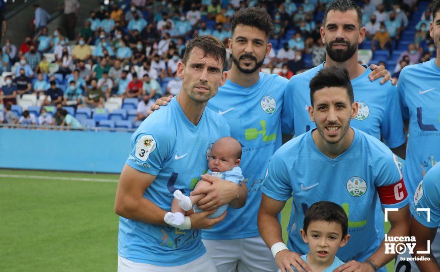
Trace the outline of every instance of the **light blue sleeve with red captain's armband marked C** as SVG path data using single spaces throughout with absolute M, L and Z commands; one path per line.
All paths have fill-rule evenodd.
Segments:
M 402 164 L 391 150 L 387 151 L 375 164 L 378 170 L 375 186 L 383 208 L 402 208 L 409 202 Z

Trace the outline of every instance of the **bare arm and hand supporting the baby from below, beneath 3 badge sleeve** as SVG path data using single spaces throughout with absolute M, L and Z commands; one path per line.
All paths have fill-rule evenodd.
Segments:
M 164 221 L 167 211 L 161 209 L 151 200 L 143 197 L 143 193 L 151 185 L 156 176 L 140 172 L 128 165 L 124 166 L 118 183 L 115 199 L 115 213 L 135 221 L 152 225 L 167 225 Z M 215 210 L 191 214 L 191 228 L 210 228 L 221 222 L 226 213 L 218 218 L 209 219 Z

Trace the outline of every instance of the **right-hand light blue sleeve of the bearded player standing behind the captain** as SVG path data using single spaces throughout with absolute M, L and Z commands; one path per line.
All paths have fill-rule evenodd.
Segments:
M 382 118 L 381 131 L 387 145 L 395 148 L 405 143 L 406 136 L 396 87 L 388 84 L 390 89 L 387 90 L 387 106 Z

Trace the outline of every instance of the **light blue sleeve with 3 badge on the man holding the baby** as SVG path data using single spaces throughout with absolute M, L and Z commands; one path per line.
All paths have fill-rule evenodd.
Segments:
M 175 143 L 175 134 L 167 132 L 169 126 L 160 126 L 148 122 L 136 131 L 131 139 L 131 151 L 126 164 L 141 172 L 157 176 L 163 163 L 170 157 Z

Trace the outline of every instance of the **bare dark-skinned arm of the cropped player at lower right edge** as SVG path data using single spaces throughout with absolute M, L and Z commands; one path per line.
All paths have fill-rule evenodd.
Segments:
M 436 257 L 430 252 L 427 254 L 417 254 L 417 251 L 427 251 L 428 241 L 432 242 L 437 234 L 437 227 L 426 227 L 420 224 L 414 217 L 411 218 L 410 236 L 416 238 L 416 246 L 412 257 L 424 257 L 425 261 L 415 261 L 420 271 L 439 271 L 440 267 Z M 429 258 L 429 261 L 428 261 Z

